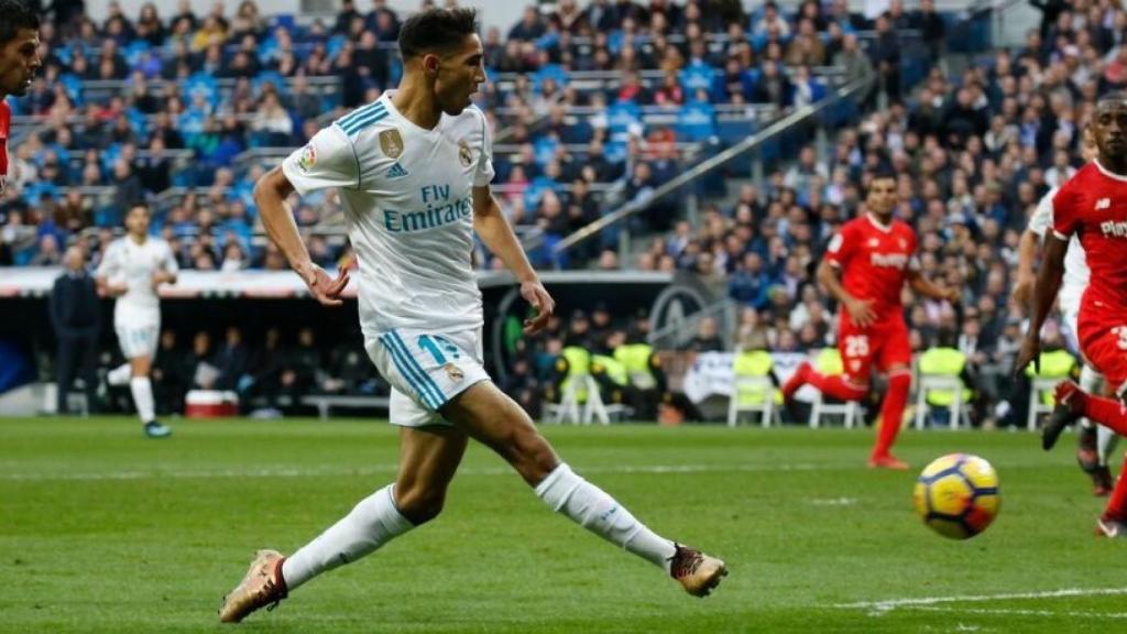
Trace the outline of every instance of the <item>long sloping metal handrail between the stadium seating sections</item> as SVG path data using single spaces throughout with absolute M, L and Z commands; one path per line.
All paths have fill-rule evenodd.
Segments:
M 689 171 L 682 173 L 680 176 L 676 176 L 672 180 L 666 182 L 664 185 L 655 190 L 654 193 L 647 196 L 645 200 L 627 203 L 625 205 L 619 208 L 618 210 L 607 213 L 603 218 L 600 218 L 598 220 L 592 222 L 591 224 L 587 224 L 583 229 L 579 229 L 578 231 L 564 238 L 553 247 L 552 252 L 554 254 L 560 254 L 574 247 L 575 245 L 595 236 L 596 234 L 610 227 L 611 224 L 618 222 L 619 220 L 628 218 L 635 213 L 638 213 L 639 211 L 642 211 L 650 204 L 668 195 L 671 192 L 680 188 L 681 186 L 692 182 L 695 178 L 699 178 L 703 174 L 711 171 L 717 167 L 720 167 L 721 165 L 751 150 L 752 148 L 755 148 L 756 146 L 764 143 L 765 141 L 770 140 L 777 134 L 784 132 L 796 123 L 799 123 L 808 117 L 811 117 L 820 113 L 825 108 L 840 103 L 842 99 L 846 99 L 855 95 L 857 93 L 867 89 L 872 83 L 875 78 L 876 73 L 869 73 L 866 77 L 859 78 L 851 83 L 836 88 L 828 97 L 822 99 L 816 104 L 808 104 L 795 109 L 795 112 L 775 121 L 774 123 L 764 127 L 756 134 L 740 141 L 739 143 L 736 143 L 735 146 L 728 148 L 727 150 L 719 152 L 715 157 L 701 161 L 699 165 L 696 165 Z M 525 245 L 525 247 L 527 248 L 529 245 Z

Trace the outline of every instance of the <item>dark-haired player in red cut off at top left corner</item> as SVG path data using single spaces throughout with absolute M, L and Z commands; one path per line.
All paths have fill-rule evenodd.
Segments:
M 43 65 L 39 16 L 18 0 L 0 0 L 0 192 L 8 180 L 8 95 L 23 96 Z

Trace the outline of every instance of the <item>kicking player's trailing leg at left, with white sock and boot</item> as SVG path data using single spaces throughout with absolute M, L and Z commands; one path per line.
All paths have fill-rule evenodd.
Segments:
M 400 430 L 399 474 L 290 557 L 260 551 L 225 598 L 220 620 L 237 623 L 277 604 L 313 576 L 369 555 L 438 517 L 465 454 L 467 435 L 445 425 Z

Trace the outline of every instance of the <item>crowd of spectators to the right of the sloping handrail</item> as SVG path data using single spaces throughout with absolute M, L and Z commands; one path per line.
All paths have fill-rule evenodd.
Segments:
M 1019 238 L 1041 196 L 1082 165 L 1098 95 L 1127 83 L 1125 43 L 1118 3 L 1073 2 L 1018 50 L 993 52 L 957 77 L 937 67 L 909 98 L 840 131 L 825 156 L 805 148 L 762 191 L 744 186 L 696 226 L 677 223 L 635 264 L 694 271 L 726 292 L 742 310 L 740 346 L 832 345 L 837 307 L 815 268 L 836 229 L 863 212 L 873 170 L 891 168 L 897 217 L 917 232 L 924 275 L 962 290 L 959 306 L 904 290 L 913 349 L 956 342 L 978 370 L 979 390 L 1004 403 L 996 379 L 1010 369 L 1027 311 L 1011 297 Z

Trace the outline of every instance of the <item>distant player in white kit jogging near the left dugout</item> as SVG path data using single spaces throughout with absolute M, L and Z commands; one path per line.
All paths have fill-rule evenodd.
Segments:
M 98 266 L 98 292 L 117 298 L 114 302 L 114 331 L 126 362 L 109 371 L 106 381 L 130 386 L 137 417 L 149 438 L 172 433 L 157 422 L 149 370 L 157 355 L 160 334 L 161 284 L 175 284 L 179 267 L 168 243 L 149 235 L 151 212 L 144 204 L 130 208 L 125 215 L 125 237 L 109 244 Z

